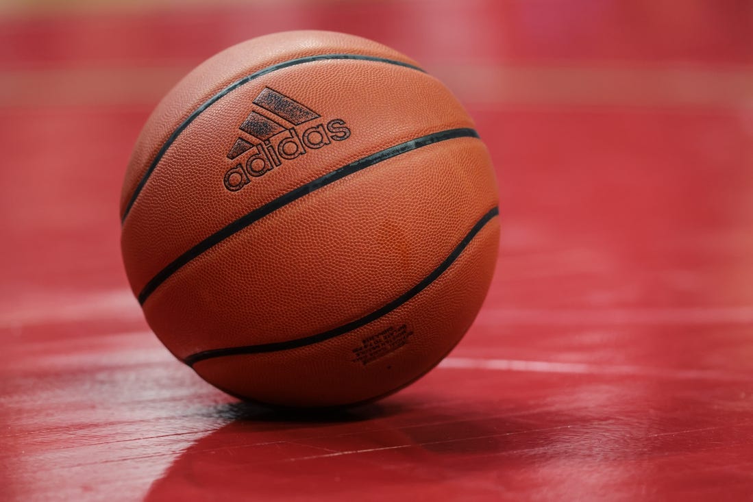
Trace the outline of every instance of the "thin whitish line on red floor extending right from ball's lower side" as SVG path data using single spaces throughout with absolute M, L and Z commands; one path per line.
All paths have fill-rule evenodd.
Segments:
M 484 359 L 475 357 L 447 357 L 441 368 L 454 370 L 520 371 L 529 373 L 575 373 L 581 375 L 650 376 L 672 380 L 746 381 L 753 374 L 726 373 L 715 370 L 674 370 L 641 366 L 590 363 L 558 363 L 553 361 L 521 361 L 515 359 Z

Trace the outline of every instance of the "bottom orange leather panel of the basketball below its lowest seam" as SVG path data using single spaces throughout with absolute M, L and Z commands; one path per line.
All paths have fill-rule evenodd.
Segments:
M 368 326 L 289 351 L 209 359 L 194 369 L 230 394 L 280 406 L 342 406 L 392 394 L 436 366 L 471 326 L 492 278 L 498 235 L 495 218 L 437 281 Z M 402 324 L 413 331 L 406 345 L 366 365 L 353 361 L 363 339 Z

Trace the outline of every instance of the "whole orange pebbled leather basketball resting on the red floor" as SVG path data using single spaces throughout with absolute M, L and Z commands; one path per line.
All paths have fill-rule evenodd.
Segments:
M 495 265 L 489 154 L 412 59 L 333 32 L 230 47 L 157 105 L 120 199 L 149 325 L 229 394 L 337 406 L 442 360 Z

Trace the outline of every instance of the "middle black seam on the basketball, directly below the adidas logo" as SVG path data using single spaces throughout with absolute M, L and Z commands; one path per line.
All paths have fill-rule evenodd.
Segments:
M 294 200 L 300 199 L 301 197 L 312 193 L 314 190 L 319 190 L 319 188 L 325 187 L 328 184 L 331 184 L 341 178 L 345 178 L 348 175 L 352 175 L 354 172 L 361 171 L 361 169 L 366 169 L 367 167 L 380 163 L 383 160 L 397 157 L 398 155 L 416 150 L 417 148 L 433 145 L 434 143 L 438 143 L 439 141 L 447 141 L 448 139 L 453 138 L 478 137 L 478 133 L 474 129 L 468 128 L 447 129 L 446 131 L 434 132 L 433 134 L 425 135 L 421 138 L 412 139 L 410 141 L 401 143 L 400 145 L 386 148 L 383 151 L 378 151 L 376 154 L 371 154 L 367 157 L 356 160 L 355 162 L 346 164 L 343 167 L 328 172 L 326 175 L 320 176 L 313 181 L 309 181 L 308 183 L 303 184 L 300 187 L 294 188 L 288 193 L 285 193 L 284 195 L 279 196 L 276 199 L 267 202 L 266 204 L 261 205 L 258 208 L 255 208 L 253 211 L 244 214 L 236 221 L 233 221 L 226 227 L 213 233 L 211 236 L 207 237 L 202 242 L 199 242 L 193 248 L 175 258 L 172 263 L 169 263 L 168 266 L 160 270 L 157 275 L 154 275 L 154 277 L 151 278 L 150 281 L 148 281 L 148 283 L 144 286 L 144 289 L 142 289 L 141 293 L 139 293 L 139 303 L 143 305 L 149 295 L 154 293 L 154 290 L 156 290 L 160 284 L 166 281 L 166 279 L 169 278 L 170 275 L 177 272 L 178 269 L 181 268 L 181 266 L 184 266 L 186 263 L 202 254 L 204 251 L 207 251 L 209 248 L 212 248 L 212 246 L 224 241 L 224 239 L 227 239 L 234 233 L 243 230 L 245 227 L 248 227 L 248 225 L 254 223 L 255 221 L 264 218 L 265 216 L 267 216 L 267 214 L 270 214 L 271 212 L 282 208 L 282 206 L 288 205 Z

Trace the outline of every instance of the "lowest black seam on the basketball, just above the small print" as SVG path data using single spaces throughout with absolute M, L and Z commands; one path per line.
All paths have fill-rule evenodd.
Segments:
M 328 330 L 324 333 L 319 333 L 313 336 L 305 336 L 303 338 L 287 340 L 285 342 L 263 343 L 260 345 L 245 345 L 243 347 L 215 348 L 213 350 L 201 351 L 186 357 L 183 362 L 188 366 L 194 366 L 194 364 L 197 364 L 199 361 L 211 359 L 212 357 L 224 357 L 239 354 L 261 354 L 263 352 L 275 352 L 288 350 L 291 348 L 300 348 L 306 345 L 323 342 L 325 340 L 334 338 L 335 336 L 349 333 L 352 330 L 356 330 L 359 327 L 363 327 L 366 324 L 369 324 L 370 322 L 376 321 L 378 318 L 382 317 L 383 315 L 389 314 L 389 312 L 392 312 L 411 298 L 415 297 L 421 291 L 425 290 L 425 288 L 427 288 L 429 284 L 439 278 L 439 276 L 442 275 L 447 269 L 449 269 L 450 265 L 452 265 L 455 260 L 458 259 L 460 254 L 462 254 L 463 250 L 468 247 L 468 244 L 471 243 L 477 233 L 481 231 L 481 229 L 489 222 L 489 220 L 491 220 L 498 214 L 499 209 L 496 206 L 490 209 L 489 212 L 484 214 L 481 219 L 476 222 L 473 228 L 471 228 L 471 231 L 469 231 L 468 234 L 463 237 L 462 241 L 460 241 L 455 249 L 453 249 L 453 252 L 450 253 L 450 255 L 445 258 L 444 261 L 440 263 L 440 265 L 437 266 L 436 269 L 432 270 L 429 275 L 423 278 L 422 281 L 413 286 L 413 288 L 410 288 L 409 291 L 405 292 L 400 297 L 395 298 L 395 300 L 392 300 L 392 302 L 390 303 L 387 303 L 381 309 L 364 315 L 364 317 L 360 319 L 351 321 L 348 324 L 343 324 L 340 327 L 334 328 L 334 330 Z

